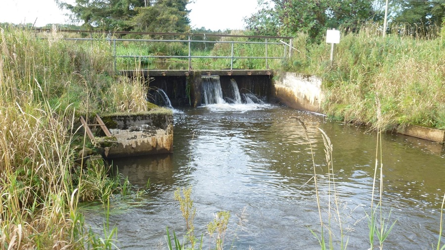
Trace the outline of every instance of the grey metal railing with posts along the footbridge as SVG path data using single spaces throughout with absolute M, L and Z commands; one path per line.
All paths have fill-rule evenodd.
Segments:
M 62 31 L 63 32 L 63 31 Z M 106 34 L 106 33 L 105 33 Z M 111 33 L 110 33 L 111 34 Z M 129 32 L 124 32 L 124 34 L 129 34 Z M 294 49 L 292 45 L 291 37 L 264 37 L 264 36 L 243 36 L 243 35 L 216 35 L 216 34 L 182 34 L 182 33 L 131 33 L 131 34 L 144 34 L 144 35 L 162 35 L 162 36 L 187 36 L 187 40 L 180 39 L 113 39 L 113 38 L 105 38 L 101 39 L 102 41 L 108 41 L 113 44 L 113 57 L 114 57 L 114 67 L 116 68 L 117 58 L 183 58 L 188 59 L 188 71 L 192 69 L 192 59 L 193 58 L 225 58 L 230 59 L 230 71 L 233 70 L 233 62 L 234 59 L 265 59 L 266 61 L 266 69 L 269 69 L 268 60 L 269 59 L 284 59 L 286 56 L 292 56 L 292 49 Z M 206 41 L 206 40 L 192 40 L 193 36 L 203 36 L 204 39 L 207 37 L 230 37 L 230 38 L 250 38 L 250 39 L 264 39 L 264 42 L 250 42 L 250 41 Z M 272 39 L 279 39 L 279 42 L 269 42 Z M 98 39 L 93 38 L 68 38 L 66 40 L 75 40 L 75 41 L 93 41 Z M 289 44 L 283 42 L 282 40 L 289 40 Z M 178 42 L 188 44 L 188 55 L 118 55 L 117 54 L 117 42 L 145 42 L 145 43 L 171 43 Z M 191 49 L 192 43 L 213 43 L 213 44 L 230 44 L 231 45 L 231 53 L 227 56 L 212 56 L 212 55 L 193 55 L 193 51 Z M 235 44 L 259 44 L 265 46 L 265 54 L 264 55 L 253 55 L 253 56 L 236 56 L 234 45 Z M 268 46 L 269 45 L 281 45 L 283 46 L 283 54 L 282 56 L 269 56 L 268 54 Z M 205 70 L 205 69 L 202 69 Z

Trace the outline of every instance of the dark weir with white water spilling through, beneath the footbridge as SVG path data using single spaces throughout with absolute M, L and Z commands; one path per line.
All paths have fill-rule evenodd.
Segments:
M 273 93 L 269 75 L 158 76 L 150 78 L 147 84 L 150 89 L 147 97 L 149 101 L 166 106 L 165 97 L 168 97 L 173 107 L 260 103 L 269 101 L 270 93 Z

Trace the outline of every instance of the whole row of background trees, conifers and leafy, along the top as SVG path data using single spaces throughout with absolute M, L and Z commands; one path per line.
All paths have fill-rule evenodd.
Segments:
M 84 28 L 137 32 L 191 32 L 187 4 L 191 0 L 55 0 Z M 215 7 L 223 4 L 215 1 Z M 319 39 L 328 28 L 356 31 L 365 22 L 382 22 L 386 0 L 258 0 L 258 11 L 245 17 L 254 35 L 295 36 L 306 32 Z M 388 20 L 418 32 L 441 27 L 445 0 L 390 0 Z M 204 27 L 199 29 L 206 31 Z

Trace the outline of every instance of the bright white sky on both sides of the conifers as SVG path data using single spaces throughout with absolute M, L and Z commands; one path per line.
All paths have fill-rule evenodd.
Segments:
M 192 28 L 243 29 L 243 17 L 256 12 L 257 0 L 195 0 L 187 8 L 191 9 L 189 18 Z M 36 22 L 36 27 L 48 23 L 69 23 L 65 13 L 54 0 L 0 0 L 0 22 Z

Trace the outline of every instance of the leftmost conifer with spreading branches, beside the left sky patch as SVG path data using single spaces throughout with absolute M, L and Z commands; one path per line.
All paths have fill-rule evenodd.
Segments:
M 132 29 L 128 21 L 136 15 L 135 8 L 152 5 L 153 0 L 76 0 L 69 4 L 55 0 L 60 8 L 71 11 L 69 18 L 83 22 L 84 27 L 105 30 Z

